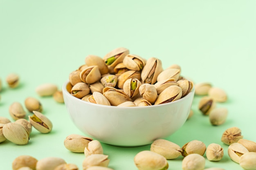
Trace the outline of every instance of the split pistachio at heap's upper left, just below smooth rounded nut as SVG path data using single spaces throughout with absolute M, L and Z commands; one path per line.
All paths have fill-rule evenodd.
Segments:
M 80 79 L 87 84 L 93 84 L 99 81 L 101 79 L 99 66 L 88 66 L 83 69 L 80 73 Z

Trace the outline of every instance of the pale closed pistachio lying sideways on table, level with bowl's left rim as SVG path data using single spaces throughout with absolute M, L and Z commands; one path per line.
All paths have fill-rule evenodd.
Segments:
M 58 87 L 52 83 L 41 84 L 36 87 L 36 93 L 40 96 L 52 96 Z

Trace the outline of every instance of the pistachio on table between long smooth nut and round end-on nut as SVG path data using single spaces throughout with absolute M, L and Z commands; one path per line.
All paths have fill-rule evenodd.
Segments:
M 187 155 L 190 155 L 193 153 L 197 153 L 203 156 L 205 151 L 206 151 L 206 146 L 202 141 L 193 140 L 184 144 L 184 146 L 182 146 L 181 154 L 183 157 L 186 157 Z

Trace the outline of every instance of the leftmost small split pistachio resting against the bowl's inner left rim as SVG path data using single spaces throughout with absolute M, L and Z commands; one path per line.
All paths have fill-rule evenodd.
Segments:
M 85 97 L 89 93 L 90 93 L 90 88 L 88 84 L 84 82 L 76 83 L 71 89 L 71 95 L 79 99 Z

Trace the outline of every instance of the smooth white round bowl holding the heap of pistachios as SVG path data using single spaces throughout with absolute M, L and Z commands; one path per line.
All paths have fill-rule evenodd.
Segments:
M 117 107 L 85 102 L 67 92 L 63 97 L 68 113 L 79 130 L 103 143 L 141 146 L 165 138 L 186 121 L 195 89 L 174 102 L 153 106 Z

